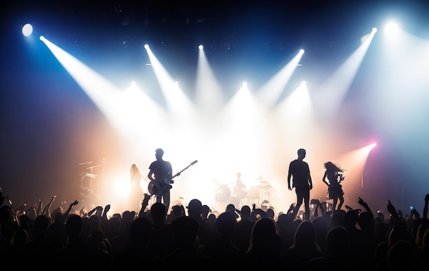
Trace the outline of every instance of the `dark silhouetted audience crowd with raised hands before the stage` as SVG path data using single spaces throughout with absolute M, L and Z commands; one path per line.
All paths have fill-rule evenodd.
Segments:
M 327 211 L 317 199 L 310 215 L 295 206 L 273 215 L 228 205 L 219 214 L 194 198 L 167 212 L 162 202 L 109 213 L 16 208 L 0 190 L 0 262 L 18 268 L 93 270 L 429 270 L 429 194 L 422 215 L 404 215 L 389 201 L 389 217 L 361 209 Z M 232 205 L 232 206 L 231 206 Z M 168 213 L 168 215 L 167 215 Z M 308 217 L 308 218 L 307 218 Z

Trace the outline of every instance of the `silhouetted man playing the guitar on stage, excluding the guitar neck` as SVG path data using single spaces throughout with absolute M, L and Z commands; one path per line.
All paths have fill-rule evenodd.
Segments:
M 156 161 L 152 162 L 149 165 L 149 174 L 147 178 L 151 180 L 149 183 L 149 191 L 153 190 L 156 195 L 156 202 L 164 203 L 166 210 L 169 210 L 170 207 L 170 180 L 172 179 L 173 169 L 171 163 L 164 161 L 162 158 L 164 156 L 164 150 L 156 149 L 155 157 Z

